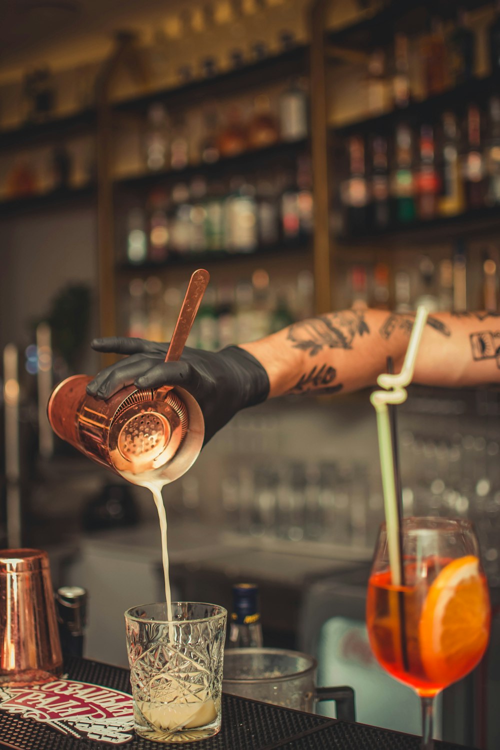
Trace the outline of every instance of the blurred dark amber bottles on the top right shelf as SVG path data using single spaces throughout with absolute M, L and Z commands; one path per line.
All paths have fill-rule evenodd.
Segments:
M 500 5 L 487 31 L 487 50 L 480 36 L 482 24 L 471 23 L 463 4 L 453 21 L 432 11 L 427 31 L 409 38 L 395 33 L 391 49 L 373 50 L 365 78 L 365 115 L 404 109 L 412 100 L 440 94 L 472 80 L 479 52 L 488 58 L 490 73 L 500 71 Z

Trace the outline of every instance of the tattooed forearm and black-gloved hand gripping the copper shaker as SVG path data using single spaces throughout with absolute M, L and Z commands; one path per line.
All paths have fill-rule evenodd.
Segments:
M 427 319 L 415 381 L 429 386 L 500 382 L 500 320 L 493 314 L 449 313 Z M 205 443 L 241 409 L 286 393 L 338 393 L 373 386 L 386 358 L 399 371 L 414 316 L 379 310 L 345 310 L 294 323 L 252 344 L 204 352 L 186 347 L 179 362 L 165 362 L 168 343 L 139 338 L 92 342 L 100 352 L 130 356 L 88 383 L 107 399 L 132 383 L 137 388 L 180 386 L 202 409 Z

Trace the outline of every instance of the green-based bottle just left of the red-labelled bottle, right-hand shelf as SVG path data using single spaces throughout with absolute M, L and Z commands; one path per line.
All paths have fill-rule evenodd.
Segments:
M 413 133 L 409 124 L 397 124 L 394 148 L 394 172 L 391 178 L 394 217 L 398 223 L 409 223 L 415 219 Z

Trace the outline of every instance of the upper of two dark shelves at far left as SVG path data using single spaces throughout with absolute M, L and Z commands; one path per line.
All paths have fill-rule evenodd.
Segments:
M 0 149 L 26 148 L 55 138 L 65 138 L 97 124 L 94 109 L 82 110 L 72 115 L 44 122 L 29 122 L 9 130 L 0 130 Z

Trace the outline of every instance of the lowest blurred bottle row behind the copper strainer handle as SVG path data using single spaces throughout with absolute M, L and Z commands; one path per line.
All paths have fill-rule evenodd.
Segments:
M 157 276 L 130 282 L 127 335 L 169 341 L 181 308 L 177 287 L 163 287 Z M 230 344 L 255 341 L 289 326 L 313 312 L 313 276 L 300 272 L 295 279 L 271 282 L 258 269 L 237 284 L 211 284 L 205 292 L 187 345 L 218 350 Z

